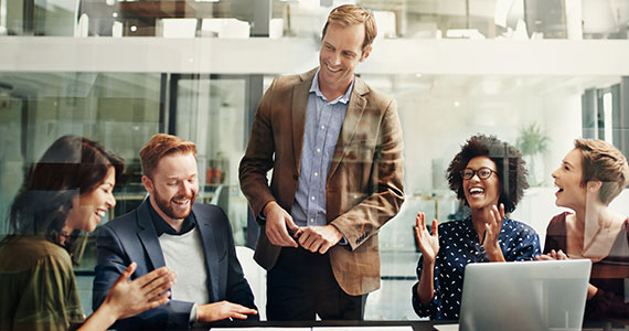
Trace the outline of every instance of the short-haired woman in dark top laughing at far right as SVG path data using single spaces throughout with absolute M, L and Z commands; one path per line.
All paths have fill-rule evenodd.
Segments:
M 629 183 L 625 156 L 603 140 L 576 139 L 555 179 L 555 204 L 571 209 L 555 215 L 537 259 L 588 258 L 591 275 L 586 319 L 629 317 L 629 217 L 609 203 Z

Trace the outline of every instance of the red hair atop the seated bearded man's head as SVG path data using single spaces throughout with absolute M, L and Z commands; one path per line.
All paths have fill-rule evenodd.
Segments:
M 174 153 L 192 153 L 196 159 L 196 146 L 192 141 L 185 141 L 177 136 L 158 134 L 145 145 L 140 151 L 140 161 L 142 163 L 142 172 L 147 177 L 151 177 L 161 158 Z

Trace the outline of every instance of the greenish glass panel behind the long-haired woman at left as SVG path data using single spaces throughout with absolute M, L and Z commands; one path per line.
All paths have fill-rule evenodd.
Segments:
M 117 190 L 135 191 L 140 177 L 138 151 L 160 131 L 163 118 L 159 74 L 0 72 L 0 82 L 7 146 L 0 173 L 6 183 L 2 215 L 22 184 L 23 171 L 63 135 L 89 137 L 122 157 L 127 175 Z M 128 210 L 126 199 L 119 200 L 111 216 Z

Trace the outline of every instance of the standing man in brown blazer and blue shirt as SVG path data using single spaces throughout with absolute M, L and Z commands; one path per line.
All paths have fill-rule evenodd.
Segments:
M 239 179 L 269 320 L 361 320 L 380 288 L 377 232 L 404 192 L 396 103 L 354 75 L 375 35 L 369 11 L 335 8 L 319 67 L 276 78 L 258 105 Z

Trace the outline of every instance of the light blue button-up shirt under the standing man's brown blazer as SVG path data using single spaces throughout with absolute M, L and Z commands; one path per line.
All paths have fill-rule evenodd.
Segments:
M 327 225 L 326 182 L 343 126 L 354 81 L 332 102 L 319 89 L 319 71 L 312 78 L 306 108 L 301 167 L 290 215 L 297 226 Z

